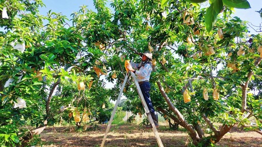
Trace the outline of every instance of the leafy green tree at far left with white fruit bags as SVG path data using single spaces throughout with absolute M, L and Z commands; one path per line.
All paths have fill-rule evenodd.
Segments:
M 59 122 L 55 118 L 67 108 L 77 116 L 75 121 L 82 121 L 78 116 L 84 105 L 79 104 L 79 110 L 74 104 L 88 95 L 84 89 L 90 89 L 93 81 L 101 86 L 100 96 L 106 93 L 103 81 L 99 80 L 106 70 L 99 70 L 99 74 L 93 70 L 96 64 L 99 69 L 103 67 L 100 57 L 105 54 L 94 44 L 83 45 L 81 34 L 76 27 L 68 25 L 67 17 L 51 11 L 47 16 L 40 15 L 38 7 L 42 6 L 41 1 L 1 1 L 0 140 L 6 146 L 33 145 L 34 142 L 28 141 L 47 125 Z M 73 87 L 70 99 L 67 99 L 69 93 L 63 97 L 57 89 L 68 81 L 72 86 L 78 85 Z M 97 99 L 97 96 L 90 96 L 100 100 L 101 104 L 94 102 L 97 105 L 109 99 L 108 96 Z M 82 116 L 81 113 L 81 119 Z M 27 126 L 34 129 L 29 130 Z

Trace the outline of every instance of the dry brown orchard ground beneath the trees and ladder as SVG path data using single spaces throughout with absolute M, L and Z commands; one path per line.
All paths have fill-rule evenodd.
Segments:
M 51 127 L 41 134 L 42 146 L 100 146 L 106 125 L 89 127 L 86 131 L 76 127 Z M 164 146 L 188 146 L 190 137 L 183 131 L 169 131 L 168 126 L 160 126 L 158 132 Z M 262 135 L 233 128 L 216 146 L 261 146 Z M 112 125 L 104 146 L 158 146 L 151 129 L 139 125 Z

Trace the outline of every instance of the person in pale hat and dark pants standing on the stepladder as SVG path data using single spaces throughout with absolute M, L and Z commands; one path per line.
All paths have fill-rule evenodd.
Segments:
M 134 72 L 134 74 L 137 77 L 137 81 L 139 83 L 139 87 L 141 88 L 142 94 L 144 96 L 146 105 L 150 111 L 150 114 L 152 116 L 152 119 L 154 120 L 154 124 L 156 126 L 156 128 L 159 127 L 158 124 L 158 115 L 157 112 L 155 111 L 151 99 L 150 99 L 150 83 L 149 83 L 149 79 L 150 79 L 150 74 L 152 71 L 152 53 L 150 52 L 145 52 L 145 53 L 140 53 L 140 56 L 142 58 L 142 61 L 140 63 L 133 63 L 130 62 L 130 65 L 127 65 L 127 68 Z M 145 126 L 146 129 L 151 129 L 152 125 L 147 125 Z

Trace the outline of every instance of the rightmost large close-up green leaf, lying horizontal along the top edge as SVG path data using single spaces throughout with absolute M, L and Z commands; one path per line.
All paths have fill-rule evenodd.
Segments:
M 247 0 L 223 0 L 223 4 L 227 7 L 233 7 L 238 9 L 251 8 Z

